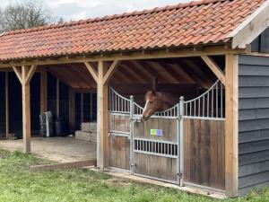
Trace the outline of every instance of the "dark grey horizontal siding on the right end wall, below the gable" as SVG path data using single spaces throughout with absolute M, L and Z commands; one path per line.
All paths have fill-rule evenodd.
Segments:
M 239 57 L 239 194 L 269 185 L 269 57 Z

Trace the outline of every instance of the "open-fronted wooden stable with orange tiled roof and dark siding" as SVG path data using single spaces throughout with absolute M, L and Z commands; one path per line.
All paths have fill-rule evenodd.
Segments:
M 39 111 L 65 117 L 70 130 L 77 111 L 96 114 L 102 170 L 227 197 L 265 187 L 268 26 L 269 1 L 209 0 L 6 32 L 1 133 L 21 113 L 29 153 Z M 14 83 L 20 91 L 11 90 Z M 143 96 L 152 87 L 178 104 L 143 121 Z M 75 92 L 89 93 L 91 110 L 76 110 Z M 22 101 L 20 111 L 14 101 Z

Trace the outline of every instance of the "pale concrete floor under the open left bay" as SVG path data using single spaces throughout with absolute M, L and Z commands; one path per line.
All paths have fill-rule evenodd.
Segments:
M 0 148 L 22 151 L 22 139 L 0 140 Z M 74 137 L 33 137 L 31 154 L 55 162 L 75 162 L 96 158 L 96 143 L 84 142 Z

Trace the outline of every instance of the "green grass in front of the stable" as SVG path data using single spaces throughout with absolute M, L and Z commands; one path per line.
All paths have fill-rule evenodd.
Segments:
M 48 163 L 30 154 L 0 149 L 0 202 L 12 201 L 219 201 L 176 189 L 117 180 L 89 170 L 30 173 L 30 165 Z M 228 201 L 269 201 L 269 189 Z

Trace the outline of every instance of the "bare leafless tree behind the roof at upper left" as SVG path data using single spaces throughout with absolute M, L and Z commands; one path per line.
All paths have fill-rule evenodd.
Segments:
M 56 22 L 42 0 L 28 0 L 0 9 L 0 31 L 27 29 Z

